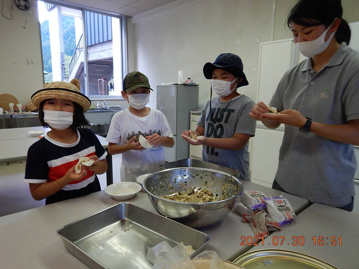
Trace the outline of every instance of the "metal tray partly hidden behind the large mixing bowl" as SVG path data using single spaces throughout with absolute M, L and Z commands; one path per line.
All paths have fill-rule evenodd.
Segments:
M 241 171 L 236 169 L 228 168 L 217 164 L 212 164 L 210 162 L 205 162 L 194 158 L 186 158 L 186 159 L 182 159 L 174 162 L 167 162 L 165 164 L 159 165 L 159 168 L 161 170 L 178 168 L 178 167 L 199 167 L 199 168 L 212 169 L 212 170 L 221 171 L 223 173 L 227 173 L 236 178 L 238 178 L 239 174 L 242 173 Z

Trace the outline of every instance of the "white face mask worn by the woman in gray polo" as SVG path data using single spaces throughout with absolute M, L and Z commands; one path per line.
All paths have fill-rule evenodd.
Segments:
M 327 34 L 330 26 L 324 31 L 324 33 L 322 33 L 320 37 L 318 37 L 315 40 L 295 43 L 295 46 L 297 46 L 300 53 L 302 53 L 304 56 L 308 58 L 311 58 L 325 51 L 325 49 L 328 47 L 330 41 L 332 40 L 335 34 L 335 32 L 332 33 L 329 39 L 327 40 L 327 42 L 324 41 L 325 35 Z

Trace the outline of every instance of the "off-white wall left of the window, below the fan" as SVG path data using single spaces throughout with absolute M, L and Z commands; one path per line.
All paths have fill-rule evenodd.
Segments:
M 12 1 L 3 2 L 3 13 L 11 18 Z M 43 86 L 37 8 L 33 6 L 32 15 L 12 14 L 12 20 L 0 15 L 0 94 L 12 94 L 26 105 Z

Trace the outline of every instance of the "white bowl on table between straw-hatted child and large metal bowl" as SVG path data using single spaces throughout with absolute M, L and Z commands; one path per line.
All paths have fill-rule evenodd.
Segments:
M 120 182 L 108 185 L 105 192 L 115 200 L 128 200 L 141 190 L 141 185 L 135 182 Z

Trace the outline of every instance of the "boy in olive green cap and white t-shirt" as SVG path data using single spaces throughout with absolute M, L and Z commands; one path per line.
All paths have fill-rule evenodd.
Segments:
M 158 165 L 164 164 L 163 147 L 174 145 L 163 113 L 146 107 L 151 90 L 148 78 L 139 71 L 123 79 L 122 97 L 130 107 L 113 115 L 106 138 L 110 154 L 122 153 L 121 181 L 136 181 L 140 175 L 158 171 Z M 141 135 L 152 147 L 141 146 Z

